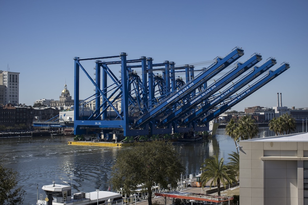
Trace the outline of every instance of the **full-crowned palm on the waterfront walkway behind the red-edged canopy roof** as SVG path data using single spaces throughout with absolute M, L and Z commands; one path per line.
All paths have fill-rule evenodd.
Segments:
M 218 160 L 218 154 L 206 159 L 202 164 L 202 170 L 202 183 L 211 181 L 210 187 L 212 187 L 213 184 L 217 185 L 218 196 L 220 196 L 221 183 L 225 186 L 236 180 L 233 170 L 229 169 L 227 165 L 224 165 L 224 158 Z

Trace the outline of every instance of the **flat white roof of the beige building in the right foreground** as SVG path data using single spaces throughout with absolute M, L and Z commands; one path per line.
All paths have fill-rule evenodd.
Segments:
M 278 135 L 263 138 L 256 138 L 243 141 L 258 141 L 258 142 L 308 142 L 308 132 L 293 133 L 288 135 Z

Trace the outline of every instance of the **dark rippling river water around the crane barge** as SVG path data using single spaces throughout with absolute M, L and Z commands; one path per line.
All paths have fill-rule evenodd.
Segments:
M 301 126 L 299 126 L 301 127 Z M 216 136 L 199 142 L 175 142 L 185 174 L 200 172 L 201 164 L 218 153 L 228 163 L 229 153 L 236 152 L 231 137 L 224 128 Z M 259 128 L 259 136 L 273 136 L 267 127 Z M 24 204 L 36 204 L 43 185 L 72 184 L 73 190 L 108 189 L 111 167 L 121 150 L 134 147 L 91 147 L 67 145 L 72 136 L 40 136 L 0 139 L 0 158 L 8 168 L 18 172 L 18 186 L 26 191 Z M 184 174 L 184 173 L 183 173 Z M 115 190 L 113 190 L 115 191 Z

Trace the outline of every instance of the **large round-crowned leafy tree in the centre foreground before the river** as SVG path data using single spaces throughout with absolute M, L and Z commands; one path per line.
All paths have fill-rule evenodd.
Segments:
M 128 195 L 141 186 L 148 193 L 148 204 L 152 205 L 152 187 L 155 184 L 165 189 L 177 186 L 180 173 L 184 172 L 177 156 L 173 145 L 164 141 L 144 142 L 125 149 L 112 167 L 110 183 L 113 189 L 122 188 Z

